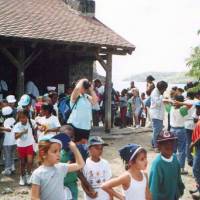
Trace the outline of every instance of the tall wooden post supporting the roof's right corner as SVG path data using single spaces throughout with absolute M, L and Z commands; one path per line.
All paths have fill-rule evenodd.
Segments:
M 112 54 L 108 53 L 106 63 L 106 84 L 105 84 L 105 131 L 110 132 L 112 128 L 111 113 L 112 113 Z

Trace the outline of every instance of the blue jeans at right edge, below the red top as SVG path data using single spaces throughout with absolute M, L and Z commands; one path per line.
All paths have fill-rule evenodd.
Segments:
M 200 146 L 195 148 L 196 154 L 193 161 L 193 174 L 196 183 L 200 185 Z

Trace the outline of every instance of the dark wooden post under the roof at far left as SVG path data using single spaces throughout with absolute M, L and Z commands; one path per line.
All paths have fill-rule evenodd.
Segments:
M 25 61 L 25 48 L 19 48 L 18 60 L 20 65 L 17 68 L 17 97 L 20 98 L 24 94 L 24 61 Z

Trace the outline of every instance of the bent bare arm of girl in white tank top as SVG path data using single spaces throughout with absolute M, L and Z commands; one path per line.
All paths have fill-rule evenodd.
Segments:
M 125 197 L 119 192 L 116 192 L 113 188 L 119 185 L 127 186 L 127 182 L 129 182 L 130 184 L 130 180 L 127 174 L 122 175 L 117 178 L 110 179 L 109 181 L 106 181 L 105 183 L 103 183 L 102 189 L 105 190 L 111 196 L 111 198 L 116 197 L 120 200 L 125 200 Z

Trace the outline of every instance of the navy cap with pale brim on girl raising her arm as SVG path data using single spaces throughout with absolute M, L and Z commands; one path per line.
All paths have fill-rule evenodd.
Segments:
M 71 141 L 70 137 L 65 133 L 59 133 L 57 135 L 47 134 L 40 138 L 40 141 L 49 141 L 52 143 L 58 143 L 61 145 L 62 149 L 68 149 L 69 142 Z

